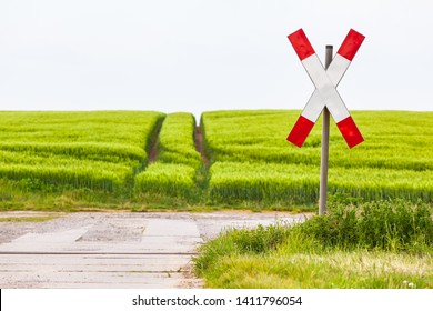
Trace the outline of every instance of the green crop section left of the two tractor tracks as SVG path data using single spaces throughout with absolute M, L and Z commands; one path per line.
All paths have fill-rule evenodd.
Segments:
M 147 147 L 163 114 L 1 112 L 0 118 L 1 179 L 30 191 L 122 193 L 145 165 Z

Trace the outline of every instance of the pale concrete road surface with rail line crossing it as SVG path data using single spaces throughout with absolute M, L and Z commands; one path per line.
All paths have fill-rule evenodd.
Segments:
M 221 230 L 305 218 L 276 212 L 52 215 L 44 222 L 0 222 L 0 288 L 200 288 L 191 259 Z

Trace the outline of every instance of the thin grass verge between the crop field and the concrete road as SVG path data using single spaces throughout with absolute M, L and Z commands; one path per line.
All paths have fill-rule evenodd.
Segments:
M 240 202 L 238 204 L 212 203 L 205 197 L 185 199 L 163 193 L 140 195 L 117 194 L 91 189 L 28 189 L 19 181 L 0 179 L 0 211 L 198 211 L 252 210 L 311 212 L 313 205 L 268 204 L 266 202 Z

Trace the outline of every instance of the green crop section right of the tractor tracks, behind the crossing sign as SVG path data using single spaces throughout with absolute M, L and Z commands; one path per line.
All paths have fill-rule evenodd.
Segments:
M 304 147 L 285 141 L 298 111 L 205 112 L 214 201 L 313 203 L 319 197 L 321 123 Z M 433 113 L 355 111 L 365 142 L 349 149 L 331 127 L 329 192 L 381 200 L 433 200 Z

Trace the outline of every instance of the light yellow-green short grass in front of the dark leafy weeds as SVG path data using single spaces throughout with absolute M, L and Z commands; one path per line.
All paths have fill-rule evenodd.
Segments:
M 220 258 L 204 278 L 208 288 L 223 289 L 432 289 L 432 254 L 365 250 L 292 253 L 280 248 L 265 257 Z

